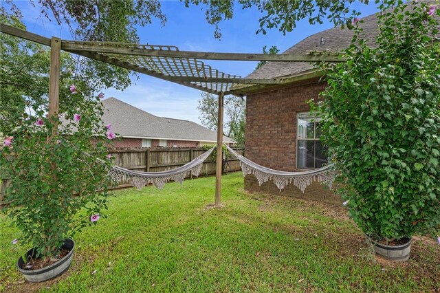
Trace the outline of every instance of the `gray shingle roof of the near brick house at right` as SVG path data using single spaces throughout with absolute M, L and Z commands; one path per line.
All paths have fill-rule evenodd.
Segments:
M 424 1 L 426 3 L 434 3 L 432 0 Z M 363 23 L 360 27 L 364 29 L 364 39 L 367 44 L 373 45 L 375 36 L 378 34 L 377 14 L 369 15 L 362 18 Z M 351 44 L 353 38 L 353 30 L 340 27 L 331 28 L 323 32 L 318 32 L 300 41 L 293 47 L 283 52 L 283 54 L 307 54 L 308 51 L 332 51 L 338 52 L 346 49 Z M 324 41 L 323 45 L 320 40 Z M 268 62 L 259 69 L 256 69 L 247 78 L 280 78 L 288 76 L 300 76 L 314 70 L 314 65 L 307 62 Z

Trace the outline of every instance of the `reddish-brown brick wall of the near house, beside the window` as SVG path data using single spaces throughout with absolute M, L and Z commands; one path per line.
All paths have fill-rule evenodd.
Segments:
M 246 157 L 271 169 L 296 171 L 297 113 L 309 111 L 307 100 L 317 99 L 325 87 L 325 83 L 314 79 L 249 94 L 246 98 Z M 247 176 L 245 188 L 248 191 L 340 203 L 336 195 L 320 184 L 312 184 L 304 194 L 294 185 L 287 186 L 280 193 L 273 182 L 259 187 L 253 176 Z

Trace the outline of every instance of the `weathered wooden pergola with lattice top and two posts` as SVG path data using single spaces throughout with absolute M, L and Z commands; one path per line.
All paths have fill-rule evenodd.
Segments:
M 1 23 L 0 32 L 50 46 L 49 117 L 58 114 L 61 50 L 85 56 L 125 69 L 168 80 L 219 96 L 217 125 L 217 160 L 215 204 L 221 203 L 221 162 L 223 139 L 223 98 L 241 95 L 243 87 L 258 85 L 283 85 L 292 83 L 289 78 L 241 78 L 220 72 L 201 60 L 220 61 L 283 61 L 283 62 L 342 62 L 338 54 L 310 52 L 309 54 L 247 54 L 219 52 L 180 51 L 172 45 L 138 45 L 131 43 L 67 41 L 52 36 L 51 39 Z M 56 129 L 54 129 L 56 131 Z

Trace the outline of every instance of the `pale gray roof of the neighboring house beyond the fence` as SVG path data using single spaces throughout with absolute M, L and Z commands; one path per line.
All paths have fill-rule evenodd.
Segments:
M 107 98 L 102 104 L 104 123 L 111 124 L 115 133 L 125 138 L 217 142 L 217 132 L 195 122 L 157 117 L 117 98 Z M 223 135 L 223 142 L 234 140 Z

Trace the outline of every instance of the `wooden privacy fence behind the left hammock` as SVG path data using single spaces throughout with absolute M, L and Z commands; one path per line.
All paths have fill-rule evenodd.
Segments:
M 244 154 L 243 148 L 234 148 L 235 151 Z M 179 166 L 192 161 L 198 155 L 201 155 L 206 150 L 203 148 L 192 149 L 115 149 L 109 151 L 113 156 L 112 162 L 115 165 L 124 167 L 126 169 L 146 172 L 159 172 L 175 169 Z M 203 162 L 203 167 L 199 176 L 215 174 L 215 157 L 210 155 L 208 159 Z M 224 171 L 232 172 L 241 170 L 240 162 L 232 155 L 226 155 L 224 160 Z M 187 176 L 192 179 L 192 174 Z M 8 180 L 2 180 L 0 183 L 0 205 L 4 204 L 4 190 L 8 184 Z M 118 188 L 131 186 L 129 182 L 122 182 Z

